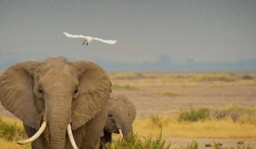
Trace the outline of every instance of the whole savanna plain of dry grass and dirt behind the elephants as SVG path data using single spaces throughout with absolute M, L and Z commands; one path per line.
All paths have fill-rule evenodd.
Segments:
M 256 73 L 109 75 L 112 95 L 127 96 L 137 108 L 133 126 L 139 138 L 151 134 L 155 139 L 162 132 L 166 144 L 171 142 L 171 149 L 249 149 L 247 145 L 256 148 Z M 0 117 L 0 147 L 22 149 L 15 145 L 15 140 L 25 137 L 21 122 L 2 107 Z M 12 125 L 14 135 L 8 139 L 5 129 Z M 193 147 L 187 148 L 188 143 L 193 143 Z

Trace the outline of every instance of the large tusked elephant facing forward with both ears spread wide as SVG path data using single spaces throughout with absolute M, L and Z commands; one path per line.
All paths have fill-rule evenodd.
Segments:
M 65 57 L 20 62 L 0 77 L 3 107 L 23 122 L 32 137 L 18 143 L 37 138 L 33 149 L 99 146 L 110 92 L 110 79 L 101 67 Z

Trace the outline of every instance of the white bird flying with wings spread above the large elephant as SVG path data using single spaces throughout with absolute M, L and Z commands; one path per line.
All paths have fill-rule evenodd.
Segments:
M 104 42 L 106 44 L 110 44 L 110 45 L 113 45 L 116 43 L 116 40 L 104 40 L 104 39 L 100 39 L 100 38 L 94 38 L 94 37 L 90 37 L 90 36 L 83 36 L 83 35 L 72 35 L 72 34 L 69 34 L 67 32 L 63 32 L 64 35 L 66 35 L 67 37 L 69 38 L 82 38 L 84 39 L 84 42 L 82 45 L 84 45 L 85 41 L 87 42 L 86 46 L 88 44 L 90 44 L 92 42 L 92 40 L 98 40 L 98 41 L 101 41 L 101 42 Z

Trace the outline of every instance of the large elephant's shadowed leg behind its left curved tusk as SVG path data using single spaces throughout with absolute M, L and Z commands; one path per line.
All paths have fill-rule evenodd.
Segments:
M 28 137 L 32 137 L 37 129 L 34 129 L 26 124 L 23 124 L 24 129 Z M 47 142 L 45 141 L 43 134 L 31 143 L 32 149 L 49 149 Z

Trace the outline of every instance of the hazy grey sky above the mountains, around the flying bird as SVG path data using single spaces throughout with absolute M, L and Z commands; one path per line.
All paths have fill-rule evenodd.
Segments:
M 115 45 L 68 39 L 63 31 Z M 0 62 L 256 58 L 256 0 L 0 0 Z

